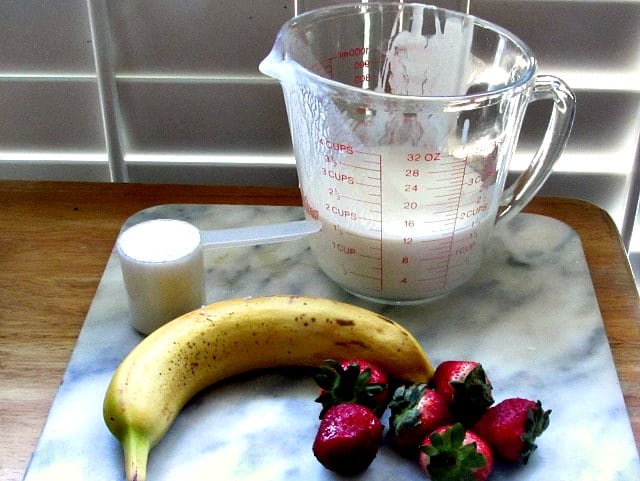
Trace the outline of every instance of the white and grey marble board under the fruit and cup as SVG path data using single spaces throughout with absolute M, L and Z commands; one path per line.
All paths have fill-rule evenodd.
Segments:
M 302 218 L 297 207 L 164 205 L 151 218 L 223 228 Z M 126 226 L 125 225 L 125 226 Z M 207 302 L 306 294 L 361 305 L 399 321 L 432 362 L 480 360 L 494 396 L 541 399 L 551 426 L 526 467 L 498 465 L 492 481 L 637 481 L 640 462 L 580 240 L 565 224 L 520 214 L 501 226 L 481 270 L 447 298 L 413 307 L 368 304 L 322 274 L 305 239 L 208 251 Z M 102 420 L 111 375 L 141 340 L 130 326 L 117 254 L 104 271 L 27 481 L 124 479 L 120 446 Z M 331 480 L 313 457 L 313 382 L 295 371 L 241 376 L 192 400 L 149 460 L 149 481 Z M 386 419 L 385 419 L 386 421 Z M 353 479 L 426 479 L 383 446 Z

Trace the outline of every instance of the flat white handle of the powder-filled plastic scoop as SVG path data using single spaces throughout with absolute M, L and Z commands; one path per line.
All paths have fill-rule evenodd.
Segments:
M 241 247 L 301 239 L 318 232 L 322 224 L 317 220 L 298 220 L 278 224 L 234 227 L 200 231 L 204 248 Z

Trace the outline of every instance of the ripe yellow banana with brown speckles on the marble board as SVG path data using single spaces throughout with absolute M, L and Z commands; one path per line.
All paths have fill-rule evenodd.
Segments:
M 255 369 L 313 367 L 329 358 L 369 360 L 406 382 L 433 374 L 420 344 L 399 324 L 329 299 L 232 299 L 165 324 L 122 361 L 104 399 L 127 481 L 145 481 L 149 451 L 201 389 Z

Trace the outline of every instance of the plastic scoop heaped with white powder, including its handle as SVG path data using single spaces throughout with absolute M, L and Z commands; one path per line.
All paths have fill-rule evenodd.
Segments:
M 154 219 L 125 230 L 116 244 L 131 311 L 143 334 L 205 303 L 203 250 L 271 244 L 320 230 L 315 220 L 199 230 L 189 222 Z

